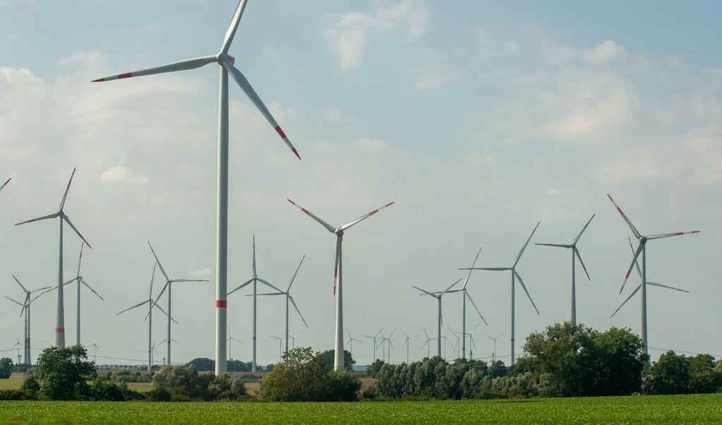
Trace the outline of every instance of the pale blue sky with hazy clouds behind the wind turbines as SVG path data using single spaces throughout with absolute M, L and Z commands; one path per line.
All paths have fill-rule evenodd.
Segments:
M 146 364 L 145 308 L 155 259 L 173 286 L 172 360 L 214 357 L 218 69 L 91 83 L 219 50 L 234 1 L 0 0 L 0 293 L 57 283 L 55 213 L 92 245 L 81 274 L 81 343 L 98 364 Z M 335 237 L 287 199 L 334 226 L 391 207 L 344 234 L 344 327 L 358 364 L 391 335 L 392 363 L 427 356 L 440 291 L 470 267 L 517 266 L 539 309 L 516 288 L 516 353 L 527 335 L 570 319 L 570 252 L 578 242 L 577 320 L 640 332 L 640 279 L 630 276 L 630 228 L 700 230 L 648 243 L 653 360 L 674 350 L 722 357 L 722 56 L 716 1 L 249 1 L 230 48 L 302 160 L 230 82 L 231 290 L 258 277 L 291 293 L 296 346 L 333 348 Z M 632 241 L 636 244 L 636 241 Z M 81 241 L 68 226 L 64 278 Z M 155 275 L 153 296 L 164 282 Z M 518 283 L 517 283 L 518 285 Z M 510 274 L 468 283 L 487 325 L 476 359 L 510 362 Z M 76 288 L 66 287 L 74 343 Z M 259 288 L 259 292 L 261 289 Z M 249 288 L 228 297 L 230 358 L 251 361 Z M 282 297 L 258 298 L 258 364 L 279 360 Z M 165 295 L 159 301 L 166 306 Z M 0 309 L 0 356 L 17 357 L 20 308 Z M 461 296 L 443 297 L 443 355 L 458 356 Z M 54 343 L 56 294 L 32 303 L 35 359 Z M 165 319 L 153 336 L 162 361 Z M 480 318 L 471 307 L 467 327 Z M 467 332 L 469 331 L 467 330 Z M 238 341 L 237 341 L 238 340 Z M 432 342 L 433 344 L 433 342 Z M 383 347 L 378 346 L 380 358 Z M 433 348 L 432 348 L 433 353 Z

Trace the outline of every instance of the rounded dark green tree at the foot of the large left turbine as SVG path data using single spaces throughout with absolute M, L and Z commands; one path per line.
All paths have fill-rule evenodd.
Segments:
M 95 379 L 97 372 L 95 364 L 85 359 L 87 352 L 82 345 L 45 348 L 38 357 L 40 393 L 51 400 L 87 398 L 87 381 Z

